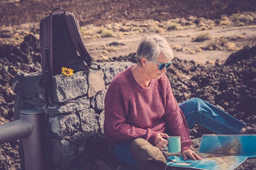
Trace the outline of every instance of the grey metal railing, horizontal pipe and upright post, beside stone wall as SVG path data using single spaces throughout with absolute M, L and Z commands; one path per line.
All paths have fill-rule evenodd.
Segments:
M 20 112 L 20 119 L 0 125 L 0 144 L 23 140 L 26 170 L 44 170 L 39 114 L 43 110 L 28 109 Z

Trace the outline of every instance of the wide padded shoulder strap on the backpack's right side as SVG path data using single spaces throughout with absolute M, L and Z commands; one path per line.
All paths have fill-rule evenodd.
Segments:
M 67 24 L 67 29 L 70 33 L 70 37 L 72 39 L 72 42 L 74 46 L 76 47 L 76 50 L 80 54 L 80 56 L 83 58 L 83 61 L 87 63 L 87 67 L 90 68 L 92 65 L 92 57 L 88 53 L 88 51 L 85 49 L 85 46 L 83 44 L 83 41 L 81 39 L 80 35 L 80 27 L 79 23 L 73 13 L 68 13 L 66 12 L 64 15 L 66 24 Z

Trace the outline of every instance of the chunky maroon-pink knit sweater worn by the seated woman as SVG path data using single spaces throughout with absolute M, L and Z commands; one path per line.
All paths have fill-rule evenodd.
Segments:
M 130 66 L 114 77 L 105 97 L 104 138 L 109 145 L 144 138 L 151 144 L 166 125 L 173 136 L 181 136 L 181 149 L 191 149 L 189 128 L 165 74 L 139 86 Z

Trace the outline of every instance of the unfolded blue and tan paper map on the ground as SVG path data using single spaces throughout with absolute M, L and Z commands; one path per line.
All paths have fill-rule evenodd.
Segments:
M 248 157 L 256 157 L 256 135 L 203 135 L 197 152 L 201 161 L 168 157 L 167 166 L 201 170 L 234 170 Z

